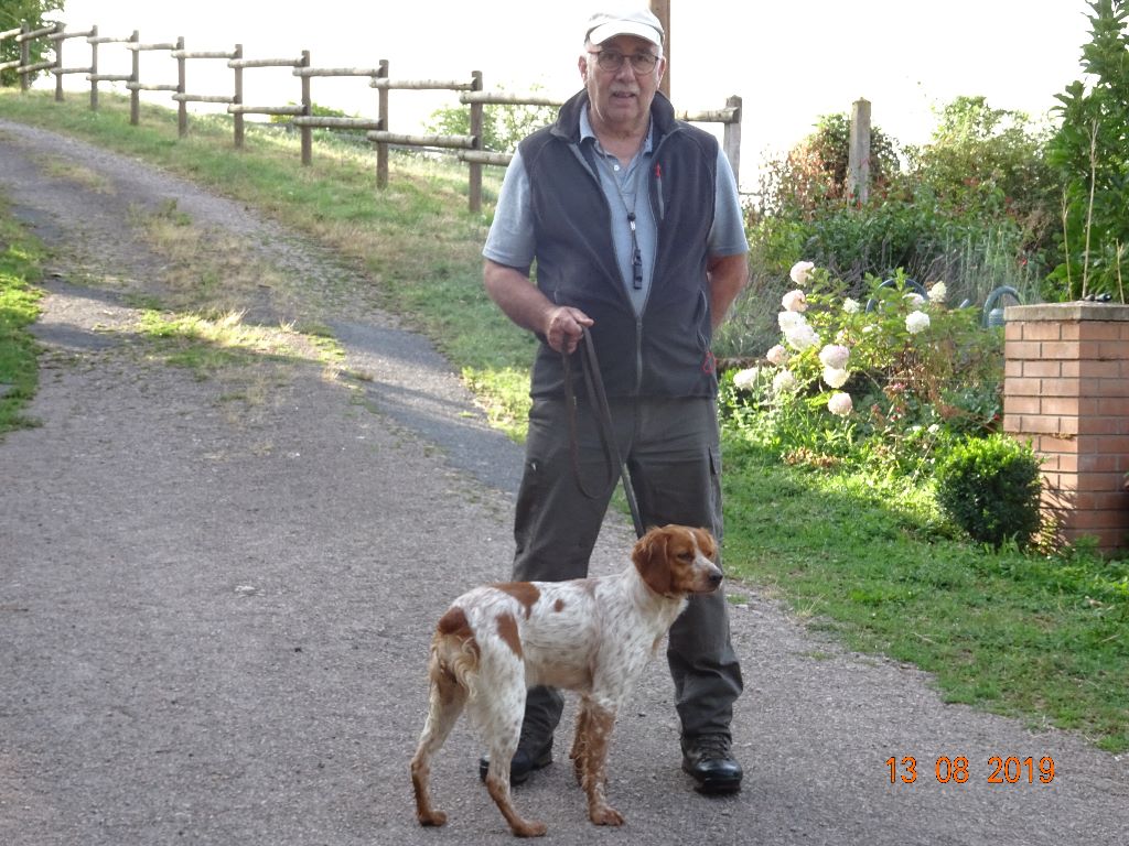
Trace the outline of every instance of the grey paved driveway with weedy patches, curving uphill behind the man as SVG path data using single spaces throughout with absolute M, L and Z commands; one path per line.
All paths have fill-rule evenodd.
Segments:
M 415 825 L 406 766 L 434 622 L 508 574 L 520 449 L 364 279 L 236 203 L 2 120 L 0 193 L 52 249 L 42 425 L 0 442 L 0 841 L 510 843 L 465 725 L 448 829 Z M 630 539 L 610 521 L 594 570 Z M 1124 760 L 729 592 L 745 791 L 679 772 L 658 660 L 616 725 L 628 829 L 559 760 L 518 794 L 554 843 L 1124 841 Z M 992 756 L 1054 781 L 990 784 Z

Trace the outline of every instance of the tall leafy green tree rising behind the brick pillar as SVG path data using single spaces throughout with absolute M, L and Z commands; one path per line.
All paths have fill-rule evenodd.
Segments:
M 1129 248 L 1129 0 L 1089 3 L 1087 81 L 1058 95 L 1062 124 L 1048 159 L 1065 184 L 1061 247 L 1051 274 L 1062 299 L 1111 293 L 1126 301 Z

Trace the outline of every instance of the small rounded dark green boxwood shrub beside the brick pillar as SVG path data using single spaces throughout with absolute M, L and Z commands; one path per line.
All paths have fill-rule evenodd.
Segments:
M 1039 530 L 1039 458 L 1005 434 L 953 448 L 937 468 L 937 501 L 974 540 L 1025 546 Z

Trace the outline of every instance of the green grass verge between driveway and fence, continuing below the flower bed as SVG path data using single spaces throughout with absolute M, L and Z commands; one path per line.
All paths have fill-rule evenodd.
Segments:
M 488 218 L 465 211 L 465 169 L 394 157 L 377 193 L 370 157 L 252 132 L 234 151 L 224 120 L 123 102 L 56 104 L 0 92 L 10 120 L 139 156 L 306 231 L 369 272 L 378 302 L 430 335 L 519 435 L 533 344 L 482 293 Z M 488 191 L 498 174 L 488 177 Z M 755 292 L 744 298 L 756 306 Z M 737 316 L 739 319 L 739 315 Z M 908 483 L 782 466 L 726 433 L 726 565 L 852 649 L 935 673 L 942 695 L 1039 728 L 1129 749 L 1129 567 L 1085 549 L 1054 557 L 991 552 L 944 526 Z

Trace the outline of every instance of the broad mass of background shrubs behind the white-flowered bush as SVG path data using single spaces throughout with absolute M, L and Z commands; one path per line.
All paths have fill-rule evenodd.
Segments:
M 778 279 L 803 257 L 858 296 L 867 274 L 902 268 L 920 282 L 945 281 L 956 301 L 982 302 L 999 285 L 1030 293 L 1051 266 L 1057 179 L 1042 153 L 1045 132 L 1026 115 L 961 97 L 939 113 L 930 143 L 901 156 L 875 129 L 865 205 L 846 191 L 848 135 L 846 115 L 824 117 L 764 168 L 761 204 L 750 213 L 764 275 Z

